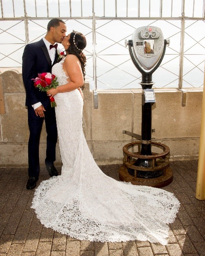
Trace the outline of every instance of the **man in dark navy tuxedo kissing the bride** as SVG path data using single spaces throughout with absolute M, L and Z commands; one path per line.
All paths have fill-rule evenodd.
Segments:
M 47 132 L 47 148 L 45 165 L 50 176 L 57 176 L 54 167 L 56 160 L 57 127 L 55 108 L 51 108 L 46 92 L 40 92 L 34 87 L 32 78 L 38 73 L 51 73 L 52 66 L 57 63 L 57 43 L 62 43 L 66 37 L 66 24 L 61 19 L 51 19 L 47 25 L 47 33 L 40 41 L 27 44 L 23 52 L 22 75 L 26 89 L 26 106 L 28 107 L 28 126 L 30 137 L 28 141 L 28 176 L 27 189 L 35 188 L 38 181 L 39 142 L 40 133 L 45 119 Z

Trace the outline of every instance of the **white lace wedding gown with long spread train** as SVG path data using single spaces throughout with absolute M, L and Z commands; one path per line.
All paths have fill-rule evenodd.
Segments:
M 52 73 L 66 84 L 62 64 Z M 169 226 L 179 209 L 172 193 L 136 186 L 106 176 L 87 146 L 83 129 L 83 99 L 78 89 L 54 97 L 61 176 L 42 181 L 32 208 L 48 228 L 80 240 L 120 242 L 149 240 L 167 244 Z

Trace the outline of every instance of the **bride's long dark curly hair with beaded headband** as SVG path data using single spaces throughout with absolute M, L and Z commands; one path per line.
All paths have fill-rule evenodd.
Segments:
M 83 72 L 83 78 L 85 81 L 85 63 L 86 63 L 86 57 L 85 54 L 83 54 L 82 50 L 86 47 L 86 39 L 85 36 L 80 33 L 73 31 L 70 33 L 70 39 L 69 39 L 69 47 L 66 50 L 66 54 L 73 54 L 76 57 L 78 57 L 82 72 Z

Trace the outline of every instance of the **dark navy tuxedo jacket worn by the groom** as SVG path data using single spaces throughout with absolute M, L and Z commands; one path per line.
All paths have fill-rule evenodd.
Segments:
M 56 51 L 53 65 L 56 64 L 57 57 Z M 26 89 L 26 106 L 41 102 L 46 108 L 50 104 L 46 92 L 40 92 L 38 88 L 35 88 L 31 79 L 38 77 L 38 73 L 51 73 L 53 65 L 43 39 L 25 46 L 22 57 L 22 76 Z

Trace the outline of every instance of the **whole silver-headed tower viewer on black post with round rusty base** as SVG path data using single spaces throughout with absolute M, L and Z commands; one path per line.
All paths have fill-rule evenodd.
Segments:
M 137 28 L 132 35 L 132 40 L 125 40 L 132 62 L 142 74 L 142 82 L 139 83 L 142 86 L 142 125 L 141 136 L 123 131 L 140 141 L 123 147 L 125 157 L 123 166 L 119 170 L 119 177 L 122 181 L 135 185 L 163 187 L 173 179 L 173 172 L 166 158 L 169 148 L 151 141 L 151 106 L 155 103 L 152 74 L 160 66 L 167 45 L 169 46 L 169 39 L 164 40 L 161 29 L 154 26 Z M 134 148 L 136 145 L 138 152 L 129 151 L 129 148 Z M 160 147 L 163 152 L 151 152 L 151 146 Z

